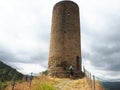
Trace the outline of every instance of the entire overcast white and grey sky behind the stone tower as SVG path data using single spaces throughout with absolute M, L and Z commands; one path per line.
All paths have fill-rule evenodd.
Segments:
M 0 0 L 0 60 L 29 74 L 47 69 L 52 9 L 59 0 Z M 80 7 L 82 62 L 120 79 L 120 0 L 73 0 Z

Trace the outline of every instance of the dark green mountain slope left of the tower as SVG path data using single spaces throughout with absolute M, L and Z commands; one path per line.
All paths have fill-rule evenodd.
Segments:
M 23 74 L 0 61 L 0 81 L 20 80 Z

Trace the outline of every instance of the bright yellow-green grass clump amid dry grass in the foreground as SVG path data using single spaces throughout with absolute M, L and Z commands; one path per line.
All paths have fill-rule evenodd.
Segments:
M 56 90 L 53 85 L 47 82 L 41 82 L 34 90 Z

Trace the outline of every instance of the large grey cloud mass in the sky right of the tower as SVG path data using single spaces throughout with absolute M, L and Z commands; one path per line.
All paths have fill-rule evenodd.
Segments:
M 100 34 L 93 32 L 89 26 L 83 25 L 85 31 L 82 33 L 88 37 L 85 40 L 91 40 L 88 47 L 90 47 L 92 53 L 83 51 L 83 59 L 90 60 L 91 65 L 98 70 L 112 71 L 114 73 L 120 71 L 120 14 L 118 14 L 116 13 L 117 17 L 115 14 L 103 17 L 106 25 L 103 28 L 103 33 Z

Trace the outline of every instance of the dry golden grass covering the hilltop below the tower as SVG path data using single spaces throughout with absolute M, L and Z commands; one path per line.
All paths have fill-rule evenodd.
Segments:
M 46 89 L 40 89 L 41 86 Z M 6 90 L 11 90 L 11 86 L 8 86 Z M 29 82 L 16 83 L 14 90 L 91 90 L 91 88 L 86 78 L 73 80 L 40 75 L 34 78 L 31 87 Z M 98 82 L 96 90 L 104 90 Z

